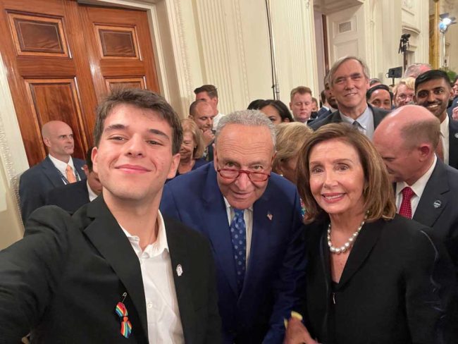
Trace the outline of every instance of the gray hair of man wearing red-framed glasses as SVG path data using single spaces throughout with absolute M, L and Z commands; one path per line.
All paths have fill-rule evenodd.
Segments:
M 218 141 L 218 136 L 221 134 L 221 130 L 228 124 L 240 124 L 240 125 L 249 125 L 252 127 L 267 127 L 271 132 L 273 147 L 276 145 L 276 135 L 275 135 L 275 126 L 272 124 L 271 120 L 264 115 L 259 110 L 241 110 L 234 111 L 221 117 L 218 122 L 218 127 L 216 128 L 215 133 L 215 144 Z

